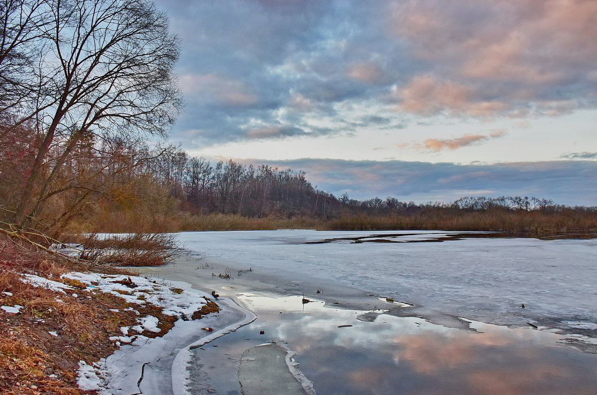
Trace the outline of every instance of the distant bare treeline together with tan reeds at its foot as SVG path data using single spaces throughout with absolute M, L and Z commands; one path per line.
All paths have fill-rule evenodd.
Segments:
M 179 213 L 161 218 L 168 230 L 273 229 L 448 229 L 494 231 L 591 231 L 597 207 L 569 207 L 536 197 L 463 197 L 452 203 L 416 204 L 393 197 L 370 200 L 336 197 L 317 189 L 305 173 L 232 160 L 210 163 L 174 150 L 128 173 L 130 183 L 150 177 L 152 191 L 177 201 Z M 132 189 L 131 189 L 132 190 Z M 129 200 L 131 197 L 129 197 Z M 101 230 L 127 218 L 125 200 L 110 206 Z M 137 210 L 143 204 L 129 204 Z M 155 206 L 155 203 L 152 203 Z M 163 206 L 163 205 L 162 205 Z M 159 210 L 154 210 L 159 213 Z M 110 217 L 111 216 L 111 217 Z M 133 222 L 143 222 L 137 218 Z M 154 221 L 155 222 L 155 221 Z

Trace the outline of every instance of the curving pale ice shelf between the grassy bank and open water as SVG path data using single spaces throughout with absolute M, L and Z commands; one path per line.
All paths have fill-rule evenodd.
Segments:
M 93 274 L 90 274 L 93 275 Z M 131 276 L 139 282 L 144 278 Z M 153 280 L 149 277 L 149 280 Z M 163 281 L 168 287 L 176 287 L 179 292 L 171 298 L 180 302 L 203 301 L 211 295 L 191 287 L 184 281 Z M 83 364 L 79 368 L 79 380 L 90 382 L 101 395 L 144 395 L 184 394 L 179 383 L 185 379 L 188 359 L 186 352 L 192 345 L 205 344 L 230 333 L 256 319 L 256 316 L 228 298 L 218 301 L 220 311 L 208 314 L 201 319 L 178 319 L 174 326 L 156 338 L 140 338 L 126 344 L 92 365 Z M 205 327 L 214 328 L 210 333 Z M 81 385 L 81 384 L 80 384 Z

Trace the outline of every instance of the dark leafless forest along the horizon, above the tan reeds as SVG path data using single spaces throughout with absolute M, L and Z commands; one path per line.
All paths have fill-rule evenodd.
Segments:
M 393 197 L 369 200 L 351 199 L 344 193 L 336 197 L 316 189 L 305 173 L 266 165 L 245 166 L 233 160 L 211 164 L 203 157 L 189 157 L 184 151 L 149 161 L 141 173 L 155 176 L 170 194 L 184 202 L 186 210 L 202 213 L 232 213 L 248 217 L 269 215 L 317 216 L 331 219 L 347 213 L 369 215 L 416 215 L 429 209 L 540 210 L 562 212 L 567 206 L 536 197 L 463 197 L 453 203 L 416 204 Z M 597 207 L 575 207 L 595 212 Z

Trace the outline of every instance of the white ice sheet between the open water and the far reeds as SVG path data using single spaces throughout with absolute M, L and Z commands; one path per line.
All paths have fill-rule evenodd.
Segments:
M 488 323 L 526 326 L 533 319 L 573 317 L 597 323 L 596 239 L 304 244 L 412 233 L 394 240 L 465 232 L 279 230 L 182 232 L 178 237 L 188 249 L 205 253 L 205 262 L 217 265 L 216 274 L 226 266 L 233 273 L 253 268 L 254 278 L 266 273 L 305 288 L 322 287 L 322 298 L 326 286 L 343 285 Z

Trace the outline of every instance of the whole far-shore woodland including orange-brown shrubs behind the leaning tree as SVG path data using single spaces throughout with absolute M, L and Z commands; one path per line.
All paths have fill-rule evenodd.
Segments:
M 10 136 L 5 133 L 4 136 Z M 21 131 L 21 136 L 27 133 Z M 19 206 L 35 140 L 0 140 L 4 222 Z M 293 169 L 233 160 L 210 163 L 176 148 L 82 139 L 47 186 L 27 226 L 64 232 L 170 232 L 229 229 L 446 229 L 595 231 L 597 207 L 536 197 L 462 197 L 416 204 L 393 197 L 355 200 L 315 188 Z

